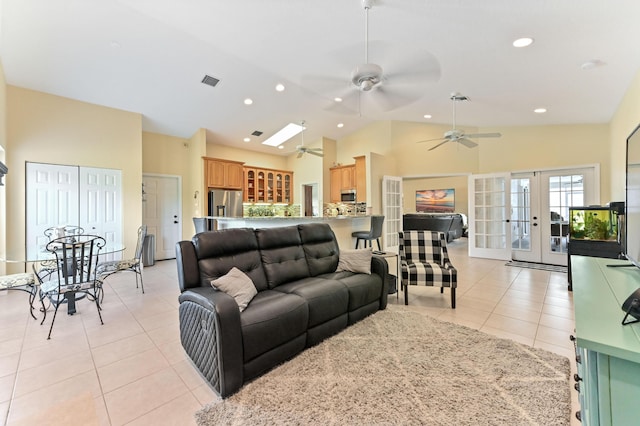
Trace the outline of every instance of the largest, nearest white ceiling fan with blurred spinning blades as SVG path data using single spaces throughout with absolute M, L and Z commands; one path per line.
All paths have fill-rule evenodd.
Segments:
M 367 98 L 378 104 L 382 111 L 391 111 L 419 99 L 421 92 L 417 87 L 440 78 L 438 61 L 425 51 L 412 55 L 411 63 L 393 63 L 394 61 L 389 61 L 389 57 L 396 59 L 395 62 L 406 61 L 394 58 L 397 49 L 385 49 L 383 43 L 377 42 L 375 47 L 378 56 L 384 56 L 392 63 L 387 64 L 387 69 L 383 70 L 382 66 L 369 62 L 369 10 L 373 4 L 374 0 L 362 0 L 365 12 L 364 63 L 352 69 L 348 84 L 345 85 L 344 78 L 326 76 L 315 77 L 310 81 L 311 85 L 321 88 L 321 92 L 338 92 L 338 96 L 332 97 L 334 102 L 329 110 L 361 113 L 361 100 Z

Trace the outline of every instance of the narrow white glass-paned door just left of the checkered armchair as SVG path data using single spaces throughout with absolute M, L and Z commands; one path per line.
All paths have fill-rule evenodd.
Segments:
M 384 251 L 398 253 L 398 232 L 402 231 L 402 178 L 382 177 L 382 235 Z

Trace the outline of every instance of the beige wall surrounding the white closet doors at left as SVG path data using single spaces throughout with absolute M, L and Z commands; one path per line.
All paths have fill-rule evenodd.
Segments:
M 24 256 L 25 163 L 122 170 L 125 256 L 132 257 L 142 223 L 140 114 L 7 86 L 7 252 Z

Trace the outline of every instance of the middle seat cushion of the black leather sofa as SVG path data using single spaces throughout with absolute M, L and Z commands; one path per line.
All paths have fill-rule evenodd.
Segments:
M 282 284 L 274 290 L 302 297 L 309 304 L 308 327 L 314 327 L 347 312 L 349 292 L 336 280 L 309 277 Z

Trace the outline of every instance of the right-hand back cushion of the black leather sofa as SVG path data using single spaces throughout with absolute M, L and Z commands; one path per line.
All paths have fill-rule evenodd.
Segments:
M 312 277 L 336 270 L 338 265 L 338 243 L 331 227 L 326 223 L 298 225 L 300 240 Z

